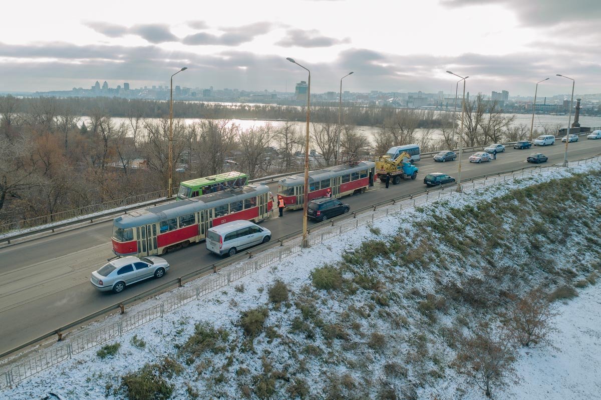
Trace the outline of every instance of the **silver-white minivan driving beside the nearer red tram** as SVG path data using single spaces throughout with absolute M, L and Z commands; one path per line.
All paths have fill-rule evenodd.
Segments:
M 233 256 L 239 250 L 267 243 L 271 232 L 256 223 L 237 220 L 207 229 L 207 250 L 219 255 Z

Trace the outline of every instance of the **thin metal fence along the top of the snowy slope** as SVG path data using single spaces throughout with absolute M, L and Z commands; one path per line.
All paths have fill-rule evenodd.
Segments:
M 577 166 L 597 162 L 599 160 L 601 160 L 601 156 L 591 157 L 590 159 L 570 162 L 569 166 Z M 553 165 L 508 172 L 507 174 L 499 174 L 495 177 L 486 177 L 480 180 L 463 183 L 462 190 L 473 190 L 479 187 L 510 181 L 515 178 L 527 177 L 547 171 L 557 171 L 563 168 L 563 166 Z M 452 189 L 435 190 L 431 193 L 427 192 L 424 195 L 416 196 L 415 198 L 394 201 L 393 204 L 385 205 L 381 208 L 373 206 L 374 209 L 372 211 L 356 214 L 352 219 L 346 219 L 336 225 L 310 232 L 308 243 L 310 246 L 315 246 L 325 240 L 341 235 L 344 232 L 352 231 L 359 226 L 368 225 L 375 220 L 382 219 L 390 214 L 397 213 L 398 211 L 457 195 L 459 195 L 459 193 Z M 189 285 L 183 286 L 172 292 L 167 298 L 161 300 L 160 303 L 144 308 L 135 314 L 126 314 L 123 315 L 120 320 L 113 323 L 103 324 L 102 326 L 86 329 L 83 332 L 74 333 L 72 336 L 69 336 L 66 341 L 53 345 L 48 350 L 43 350 L 40 354 L 28 357 L 25 360 L 6 363 L 2 366 L 0 371 L 0 389 L 12 387 L 14 384 L 19 383 L 38 372 L 44 371 L 44 369 L 72 358 L 75 354 L 82 353 L 82 351 L 89 350 L 97 345 L 105 344 L 115 338 L 119 338 L 125 332 L 156 320 L 157 318 L 161 318 L 163 315 L 168 314 L 187 303 L 200 300 L 204 295 L 224 288 L 232 282 L 242 279 L 242 277 L 248 276 L 261 268 L 281 262 L 282 259 L 302 251 L 302 244 L 300 243 L 299 238 L 291 240 L 290 242 L 285 245 L 282 243 L 281 246 L 274 247 L 264 253 L 264 255 L 255 256 L 255 258 L 251 258 L 249 261 L 243 262 L 242 265 L 237 267 L 228 267 L 227 269 L 223 269 L 218 273 L 212 274 L 197 282 L 189 282 Z

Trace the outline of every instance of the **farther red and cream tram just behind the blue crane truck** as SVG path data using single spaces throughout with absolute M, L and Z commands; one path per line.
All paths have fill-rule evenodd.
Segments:
M 333 198 L 365 192 L 373 186 L 375 173 L 376 163 L 371 161 L 309 171 L 309 200 L 325 196 L 328 189 Z M 278 196 L 284 198 L 286 208 L 291 210 L 302 208 L 304 190 L 304 174 L 291 175 L 278 182 Z

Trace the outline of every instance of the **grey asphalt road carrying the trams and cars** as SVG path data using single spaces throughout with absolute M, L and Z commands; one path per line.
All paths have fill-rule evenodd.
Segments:
M 533 151 L 548 156 L 547 165 L 563 162 L 564 144 L 561 142 L 531 150 L 508 148 L 505 153 L 499 153 L 496 160 L 483 164 L 468 163 L 472 153 L 464 153 L 462 178 L 534 166 L 525 161 Z M 601 140 L 581 138 L 579 142 L 569 144 L 570 160 L 599 154 Z M 424 159 L 416 163 L 419 172 L 415 181 L 391 184 L 389 189 L 377 181 L 368 192 L 347 196 L 343 201 L 350 204 L 352 211 L 416 192 L 425 187 L 423 178 L 430 172 L 444 172 L 456 177 L 457 164 L 457 161 L 436 163 L 430 158 Z M 275 194 L 276 183 L 270 187 Z M 262 223 L 272 231 L 274 238 L 302 229 L 302 211 L 284 211 L 282 218 L 276 217 L 277 214 L 276 210 L 275 217 Z M 165 255 L 171 264 L 166 278 L 138 283 L 120 294 L 102 293 L 91 286 L 89 279 L 91 271 L 113 256 L 111 232 L 109 221 L 0 247 L 0 353 L 160 285 L 165 279 L 206 268 L 220 259 L 207 252 L 204 242 L 194 244 Z

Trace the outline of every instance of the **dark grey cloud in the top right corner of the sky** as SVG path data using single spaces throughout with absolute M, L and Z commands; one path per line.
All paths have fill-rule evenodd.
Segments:
M 442 0 L 448 7 L 498 4 L 514 10 L 523 25 L 549 26 L 558 23 L 599 20 L 601 1 L 578 0 Z

